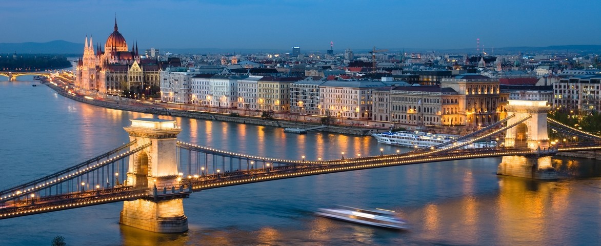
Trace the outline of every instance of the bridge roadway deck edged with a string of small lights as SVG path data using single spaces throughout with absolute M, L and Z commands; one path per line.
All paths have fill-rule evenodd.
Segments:
M 182 143 L 180 143 L 182 146 Z M 204 148 L 189 145 L 188 148 Z M 205 148 L 206 149 L 206 148 Z M 211 188 L 228 187 L 233 185 L 251 184 L 255 182 L 272 181 L 276 179 L 297 178 L 302 176 L 320 175 L 325 173 L 347 172 L 352 170 L 372 169 L 377 167 L 403 166 L 409 164 L 430 163 L 439 161 L 465 160 L 472 158 L 502 157 L 507 155 L 552 155 L 557 152 L 599 150 L 598 142 L 579 143 L 558 146 L 558 148 L 532 151 L 528 148 L 486 148 L 456 149 L 447 152 L 432 152 L 424 155 L 419 152 L 402 154 L 376 155 L 371 157 L 340 159 L 331 161 L 291 161 L 279 160 L 281 166 L 271 166 L 261 169 L 239 170 L 236 172 L 218 173 L 213 175 L 195 176 L 180 179 L 180 187 L 158 187 L 156 190 L 135 188 L 127 185 L 115 185 L 111 188 L 96 188 L 81 190 L 68 194 L 43 197 L 27 197 L 26 199 L 11 200 L 0 203 L 0 220 L 4 218 L 22 217 L 25 215 L 61 211 L 104 203 L 121 202 L 125 200 L 148 199 L 162 200 L 173 197 L 189 197 L 189 194 Z M 214 149 L 214 154 L 239 155 Z M 248 157 L 248 156 L 247 156 Z M 263 160 L 270 160 L 263 158 Z M 275 159 L 274 159 L 275 160 Z

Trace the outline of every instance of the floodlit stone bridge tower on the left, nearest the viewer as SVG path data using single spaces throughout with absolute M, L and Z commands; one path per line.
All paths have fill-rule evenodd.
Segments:
M 124 185 L 148 188 L 150 193 L 148 197 L 124 202 L 120 223 L 151 232 L 186 232 L 188 217 L 184 215 L 183 198 L 190 193 L 174 192 L 182 191 L 178 183 L 176 157 L 176 137 L 182 129 L 175 121 L 165 119 L 139 118 L 131 121 L 130 127 L 124 127 L 130 141 L 136 140 L 130 149 L 147 143 L 151 145 L 133 155 Z

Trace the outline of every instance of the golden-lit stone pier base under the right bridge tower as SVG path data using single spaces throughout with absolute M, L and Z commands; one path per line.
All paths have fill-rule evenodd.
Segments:
M 557 171 L 551 166 L 551 155 L 503 157 L 501 164 L 496 169 L 496 174 L 540 180 L 557 179 Z

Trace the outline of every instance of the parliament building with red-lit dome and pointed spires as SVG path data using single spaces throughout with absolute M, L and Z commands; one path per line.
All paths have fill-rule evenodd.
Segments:
M 86 94 L 118 94 L 123 91 L 142 95 L 148 87 L 159 85 L 160 66 L 156 59 L 140 59 L 138 46 L 129 50 L 117 28 L 106 39 L 104 50 L 85 38 L 84 56 L 78 61 L 75 87 Z

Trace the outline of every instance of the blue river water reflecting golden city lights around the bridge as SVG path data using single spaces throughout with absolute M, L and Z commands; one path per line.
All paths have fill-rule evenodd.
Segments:
M 22 77 L 19 77 L 22 79 Z M 31 78 L 29 78 L 31 79 Z M 28 80 L 28 79 L 23 79 Z M 178 139 L 252 155 L 307 160 L 377 155 L 371 137 L 171 118 L 82 104 L 31 81 L 0 81 L 0 189 L 73 166 L 127 142 L 129 119 L 175 119 Z M 401 149 L 401 151 L 407 151 Z M 600 245 L 601 163 L 556 158 L 559 181 L 495 175 L 500 158 L 385 167 L 216 188 L 184 200 L 189 232 L 118 224 L 123 203 L 0 220 L 0 245 Z M 316 217 L 335 205 L 400 212 L 396 231 Z

